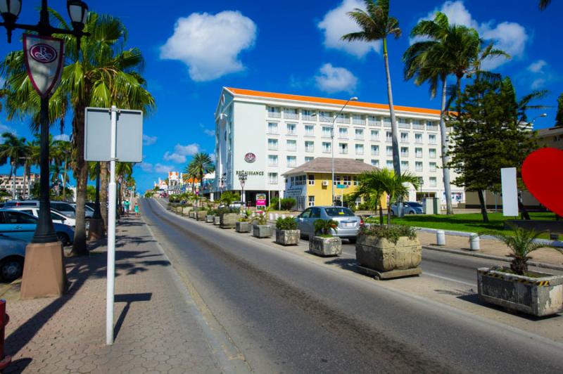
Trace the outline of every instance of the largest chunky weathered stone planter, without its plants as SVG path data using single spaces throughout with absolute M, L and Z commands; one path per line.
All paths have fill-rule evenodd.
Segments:
M 379 279 L 422 273 L 422 246 L 418 239 L 400 237 L 397 244 L 376 236 L 358 236 L 356 260 L 360 271 Z

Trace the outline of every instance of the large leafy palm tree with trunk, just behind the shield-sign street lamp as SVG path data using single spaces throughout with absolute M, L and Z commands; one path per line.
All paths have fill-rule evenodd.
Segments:
M 51 11 L 51 15 L 61 22 L 61 27 L 69 29 L 64 19 Z M 154 98 L 146 90 L 146 82 L 140 72 L 143 58 L 139 49 L 123 49 L 127 40 L 127 30 L 118 18 L 110 15 L 89 13 L 84 27 L 91 36 L 82 38 L 81 49 L 72 35 L 56 35 L 65 43 L 66 63 L 61 84 L 49 101 L 51 123 L 65 118 L 68 106 L 72 107 L 72 143 L 76 151 L 74 176 L 77 184 L 76 227 L 72 254 L 87 254 L 84 202 L 88 168 L 84 161 L 84 109 L 87 106 L 110 108 L 153 109 Z M 8 53 L 1 65 L 6 84 L 11 88 L 7 99 L 8 117 L 15 114 L 25 117 L 31 115 L 37 124 L 39 96 L 32 88 L 25 66 L 23 53 Z

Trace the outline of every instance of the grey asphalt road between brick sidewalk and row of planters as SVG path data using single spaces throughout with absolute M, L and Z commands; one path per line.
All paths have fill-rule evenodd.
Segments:
M 141 209 L 256 373 L 563 372 L 551 340 L 187 221 L 152 199 Z

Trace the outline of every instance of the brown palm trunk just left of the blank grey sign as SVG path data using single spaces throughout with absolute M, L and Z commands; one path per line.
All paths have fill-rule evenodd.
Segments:
M 76 149 L 76 226 L 75 239 L 71 254 L 82 256 L 88 254 L 86 246 L 86 186 L 88 184 L 88 164 L 84 161 L 84 105 L 76 105 L 75 117 L 72 120 L 72 138 Z

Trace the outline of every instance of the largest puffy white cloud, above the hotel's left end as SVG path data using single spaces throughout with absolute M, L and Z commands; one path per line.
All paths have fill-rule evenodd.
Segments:
M 182 61 L 196 82 L 210 81 L 243 70 L 239 53 L 251 48 L 255 39 L 255 23 L 238 11 L 192 13 L 178 18 L 160 58 Z

